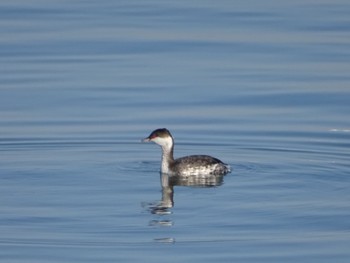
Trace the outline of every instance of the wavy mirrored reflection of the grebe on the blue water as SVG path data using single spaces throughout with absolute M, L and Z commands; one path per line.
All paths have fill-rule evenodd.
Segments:
M 215 187 L 223 183 L 223 175 L 212 176 L 175 176 L 161 173 L 160 183 L 162 186 L 162 199 L 156 204 L 149 205 L 149 211 L 156 215 L 171 214 L 171 208 L 174 206 L 174 186 L 189 187 Z M 153 221 L 152 221 L 153 222 Z M 157 221 L 158 222 L 158 221 Z M 154 222 L 153 222 L 154 223 Z M 163 225 L 163 221 L 159 222 Z M 164 224 L 169 225 L 169 222 Z

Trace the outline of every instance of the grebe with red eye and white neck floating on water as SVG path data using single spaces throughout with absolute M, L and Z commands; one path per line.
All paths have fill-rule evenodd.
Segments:
M 208 155 L 191 155 L 174 160 L 174 139 L 167 129 L 154 130 L 143 142 L 155 142 L 162 147 L 161 173 L 179 176 L 225 175 L 230 166 Z

